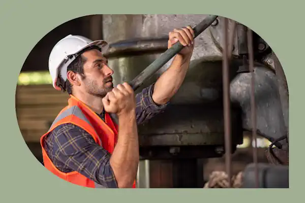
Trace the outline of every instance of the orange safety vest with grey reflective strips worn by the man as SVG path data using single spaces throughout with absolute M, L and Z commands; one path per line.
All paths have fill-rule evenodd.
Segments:
M 95 142 L 100 146 L 103 146 L 103 148 L 110 154 L 112 154 L 117 141 L 117 124 L 112 121 L 107 112 L 105 113 L 104 122 L 94 111 L 92 111 L 76 97 L 71 95 L 71 97 L 68 99 L 68 106 L 59 112 L 48 132 L 46 132 L 40 139 L 44 166 L 50 172 L 59 178 L 76 185 L 92 188 L 105 188 L 104 186 L 86 178 L 76 171 L 63 173 L 59 171 L 52 163 L 44 149 L 44 139 L 55 127 L 64 123 L 72 123 L 86 130 L 89 134 L 91 134 Z M 136 184 L 134 182 L 133 188 L 135 187 Z

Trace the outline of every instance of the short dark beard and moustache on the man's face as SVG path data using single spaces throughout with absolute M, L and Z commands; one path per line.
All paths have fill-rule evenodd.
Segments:
M 98 96 L 98 97 L 105 97 L 108 92 L 113 89 L 113 84 L 109 87 L 106 87 L 106 83 L 108 81 L 112 81 L 112 77 L 106 78 L 103 80 L 103 87 L 99 86 L 97 81 L 90 80 L 88 78 L 84 79 L 83 82 L 85 83 L 85 91 L 91 95 Z

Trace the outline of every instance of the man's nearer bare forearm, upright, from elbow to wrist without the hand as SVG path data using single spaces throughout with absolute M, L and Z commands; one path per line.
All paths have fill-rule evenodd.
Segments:
M 110 158 L 119 188 L 131 188 L 139 163 L 138 131 L 135 113 L 118 117 L 118 140 Z

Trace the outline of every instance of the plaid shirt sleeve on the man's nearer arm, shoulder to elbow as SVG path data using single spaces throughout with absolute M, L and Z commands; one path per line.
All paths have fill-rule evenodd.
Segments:
M 111 155 L 84 129 L 73 124 L 62 125 L 50 134 L 46 149 L 48 143 L 52 143 L 48 154 L 60 171 L 77 171 L 106 188 L 118 187 L 110 166 Z

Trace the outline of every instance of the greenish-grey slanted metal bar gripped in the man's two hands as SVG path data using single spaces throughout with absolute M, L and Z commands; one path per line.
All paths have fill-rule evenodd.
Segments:
M 217 18 L 216 15 L 209 15 L 204 18 L 198 25 L 193 29 L 195 32 L 195 38 L 200 35 L 206 28 L 208 28 Z M 138 89 L 143 82 L 153 76 L 165 63 L 167 63 L 172 57 L 179 53 L 184 48 L 179 42 L 175 43 L 170 49 L 167 49 L 159 58 L 148 65 L 135 79 L 129 84 L 133 90 Z

